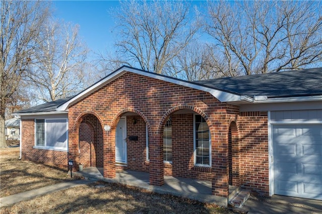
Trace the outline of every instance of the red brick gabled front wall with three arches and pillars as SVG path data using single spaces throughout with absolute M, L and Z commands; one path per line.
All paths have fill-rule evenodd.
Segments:
M 227 170 L 224 167 L 228 165 L 226 150 L 230 116 L 227 117 L 227 104 L 220 103 L 208 92 L 130 72 L 125 73 L 69 108 L 69 150 L 77 160 L 80 117 L 87 113 L 95 115 L 103 126 L 111 126 L 111 131 L 104 132 L 104 136 L 106 136 L 104 137 L 104 151 L 106 151 L 104 153 L 106 160 L 104 161 L 104 176 L 114 177 L 116 169 L 115 127 L 124 113 L 134 112 L 145 121 L 149 130 L 150 183 L 162 185 L 163 175 L 168 170 L 168 168 L 165 170 L 163 163 L 163 126 L 169 115 L 181 109 L 192 110 L 202 115 L 209 124 L 214 154 L 212 170 L 204 168 L 194 170 L 205 172 L 196 172 L 200 178 L 203 177 L 202 174 L 206 175 L 212 171 L 213 193 L 218 196 L 226 196 L 228 180 L 226 178 Z M 144 147 L 143 142 L 140 145 L 143 145 L 142 148 Z M 145 154 L 142 156 L 144 159 Z M 174 167 L 172 168 L 173 172 Z M 189 167 L 191 168 L 191 166 Z M 184 174 L 179 166 L 175 172 L 179 175 Z M 194 171 L 191 170 L 191 173 Z M 215 177 L 221 179 L 215 179 Z

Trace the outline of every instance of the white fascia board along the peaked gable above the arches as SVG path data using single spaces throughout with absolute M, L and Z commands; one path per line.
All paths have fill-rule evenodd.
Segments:
M 154 79 L 159 79 L 159 80 L 163 80 L 163 81 L 166 81 L 166 82 L 171 82 L 171 83 L 174 83 L 174 84 L 178 84 L 178 85 L 187 86 L 187 87 L 190 87 L 190 88 L 206 91 L 206 92 L 211 93 L 214 97 L 216 97 L 221 102 L 240 101 L 240 96 L 236 95 L 236 94 L 233 94 L 233 93 L 228 93 L 228 92 L 216 90 L 216 89 L 209 88 L 209 87 L 204 87 L 204 86 L 193 84 L 193 83 L 190 83 L 190 82 L 181 81 L 179 79 L 173 79 L 173 78 L 168 78 L 166 76 L 155 75 L 152 72 L 144 72 L 144 71 L 136 70 L 136 69 L 132 69 L 132 68 L 124 68 L 124 69 L 119 70 L 119 71 L 117 71 L 115 73 L 112 73 L 108 78 L 102 79 L 101 81 L 99 81 L 96 84 L 92 85 L 91 87 L 89 87 L 88 89 L 86 89 L 82 93 L 78 94 L 74 98 L 72 98 L 69 101 L 65 102 L 64 104 L 60 105 L 57 108 L 57 111 L 68 111 L 68 107 L 71 104 L 77 102 L 78 100 L 81 100 L 85 96 L 93 93 L 97 89 L 99 89 L 99 88 L 103 87 L 104 85 L 108 84 L 109 82 L 115 80 L 116 78 L 118 78 L 119 76 L 123 75 L 126 72 L 136 73 L 136 74 L 143 75 L 143 76 L 148 76 L 148 77 L 151 77 L 151 78 L 154 78 Z

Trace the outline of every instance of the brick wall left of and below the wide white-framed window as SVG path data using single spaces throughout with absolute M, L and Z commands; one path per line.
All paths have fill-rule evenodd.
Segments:
M 35 149 L 35 120 L 21 119 L 22 123 L 22 159 L 67 170 L 67 151 Z

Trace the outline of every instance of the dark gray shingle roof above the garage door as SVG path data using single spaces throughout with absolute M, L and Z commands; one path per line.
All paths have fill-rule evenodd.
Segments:
M 322 68 L 200 80 L 195 83 L 253 97 L 322 95 Z

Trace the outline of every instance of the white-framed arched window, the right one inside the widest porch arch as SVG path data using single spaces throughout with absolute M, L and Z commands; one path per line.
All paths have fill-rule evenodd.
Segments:
M 211 166 L 211 144 L 209 127 L 201 115 L 194 118 L 195 165 Z

